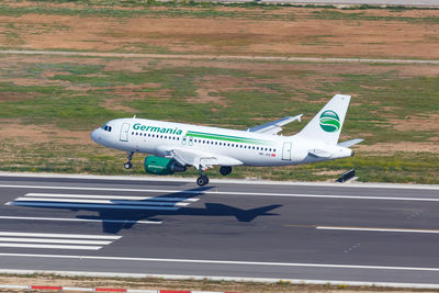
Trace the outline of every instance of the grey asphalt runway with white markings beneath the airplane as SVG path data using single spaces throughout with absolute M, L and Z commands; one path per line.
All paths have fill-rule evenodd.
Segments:
M 439 189 L 0 177 L 0 270 L 439 285 Z

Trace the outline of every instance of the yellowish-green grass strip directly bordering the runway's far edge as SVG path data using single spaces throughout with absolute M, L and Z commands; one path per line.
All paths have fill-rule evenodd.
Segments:
M 99 174 L 144 174 L 142 155 L 135 155 L 134 167 L 126 171 L 122 164 L 125 154 L 99 146 L 61 145 L 53 143 L 33 144 L 31 147 L 15 147 L 15 143 L 1 144 L 8 157 L 1 158 L 1 171 L 99 173 Z M 391 156 L 359 154 L 353 158 L 295 167 L 235 168 L 228 178 L 261 178 L 266 180 L 325 181 L 335 180 L 342 172 L 356 168 L 357 176 L 365 182 L 425 183 L 438 184 L 439 158 L 428 153 L 396 153 Z M 428 170 L 428 171 L 427 171 Z M 331 171 L 325 174 L 325 171 Z M 178 177 L 195 177 L 198 171 L 190 168 Z M 215 168 L 207 171 L 212 178 L 223 178 Z

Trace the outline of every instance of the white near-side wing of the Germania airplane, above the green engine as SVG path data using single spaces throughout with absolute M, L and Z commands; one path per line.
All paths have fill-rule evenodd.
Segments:
M 212 153 L 198 151 L 193 149 L 172 149 L 170 150 L 170 158 L 177 160 L 183 166 L 191 165 L 196 169 L 205 170 L 212 168 L 214 165 L 221 166 L 239 166 L 241 161 L 232 157 L 222 156 Z

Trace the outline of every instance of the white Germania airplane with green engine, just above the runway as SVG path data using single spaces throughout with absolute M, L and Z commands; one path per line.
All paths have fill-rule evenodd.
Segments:
M 248 129 L 229 129 L 175 122 L 137 119 L 116 119 L 91 133 L 91 139 L 105 147 L 124 150 L 133 167 L 135 153 L 149 154 L 144 168 L 151 174 L 184 172 L 193 166 L 200 171 L 196 184 L 209 183 L 205 170 L 219 166 L 227 176 L 233 167 L 272 167 L 327 161 L 354 155 L 350 149 L 363 139 L 338 143 L 348 110 L 350 95 L 336 94 L 295 135 L 278 135 L 282 126 L 301 121 L 289 116 Z

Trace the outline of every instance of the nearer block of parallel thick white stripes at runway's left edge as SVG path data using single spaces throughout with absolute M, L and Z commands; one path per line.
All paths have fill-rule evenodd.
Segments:
M 0 247 L 99 250 L 122 236 L 0 232 Z

